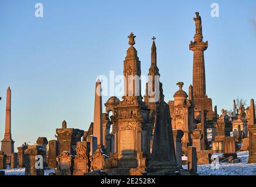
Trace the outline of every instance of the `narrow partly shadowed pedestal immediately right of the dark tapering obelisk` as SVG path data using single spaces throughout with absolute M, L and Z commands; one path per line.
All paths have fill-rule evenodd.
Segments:
M 178 167 L 182 167 L 182 137 L 184 133 L 182 130 L 172 130 L 172 132 L 176 153 L 176 161 Z

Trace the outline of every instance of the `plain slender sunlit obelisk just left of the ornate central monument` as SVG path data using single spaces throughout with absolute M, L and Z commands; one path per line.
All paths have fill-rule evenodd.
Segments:
M 97 80 L 95 84 L 95 101 L 94 101 L 94 122 L 93 136 L 97 136 L 98 148 L 103 148 L 103 112 L 102 112 L 102 95 L 101 82 Z

